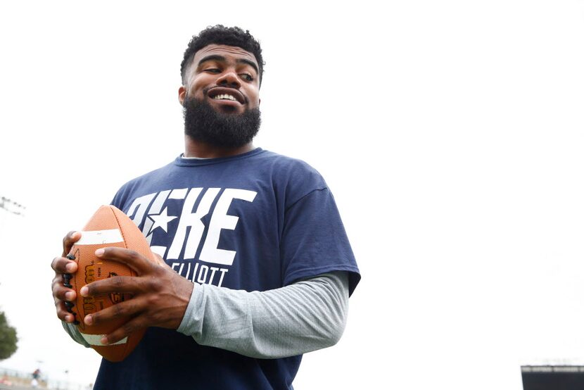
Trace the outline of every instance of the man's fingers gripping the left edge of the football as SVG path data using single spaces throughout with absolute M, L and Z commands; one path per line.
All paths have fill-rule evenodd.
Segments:
M 72 323 L 75 321 L 75 316 L 67 311 L 65 306 L 65 301 L 73 302 L 77 297 L 77 293 L 73 289 L 68 289 L 63 286 L 63 274 L 74 274 L 77 272 L 77 263 L 73 260 L 69 260 L 65 256 L 71 250 L 71 247 L 75 242 L 81 238 L 81 233 L 72 231 L 69 232 L 65 237 L 63 237 L 63 254 L 61 257 L 53 258 L 51 263 L 51 268 L 55 271 L 55 277 L 53 278 L 53 299 L 55 300 L 55 308 L 57 310 L 57 317 L 61 321 Z M 77 321 L 82 321 L 83 319 L 77 318 Z

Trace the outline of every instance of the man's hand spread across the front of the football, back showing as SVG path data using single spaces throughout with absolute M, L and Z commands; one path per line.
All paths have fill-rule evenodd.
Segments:
M 98 280 L 80 290 L 82 296 L 113 292 L 132 294 L 132 299 L 85 316 L 87 325 L 101 324 L 120 316 L 132 317 L 122 327 L 107 334 L 101 340 L 102 344 L 115 343 L 145 327 L 179 327 L 191 299 L 193 283 L 174 272 L 158 255 L 155 255 L 158 263 L 153 263 L 135 251 L 110 247 L 98 249 L 96 256 L 125 263 L 138 274 L 137 277 L 116 276 Z

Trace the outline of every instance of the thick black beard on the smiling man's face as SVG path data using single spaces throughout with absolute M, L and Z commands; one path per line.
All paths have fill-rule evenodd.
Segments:
M 241 114 L 215 111 L 206 101 L 188 96 L 183 102 L 184 134 L 195 141 L 222 148 L 248 144 L 260 130 L 260 108 Z

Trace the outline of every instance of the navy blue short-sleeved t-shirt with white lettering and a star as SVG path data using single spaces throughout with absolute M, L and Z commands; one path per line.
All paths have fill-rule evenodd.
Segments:
M 345 270 L 353 293 L 360 279 L 321 175 L 277 153 L 178 157 L 125 184 L 112 204 L 193 282 L 267 291 Z M 301 358 L 248 358 L 151 327 L 125 360 L 102 360 L 95 389 L 291 389 Z

